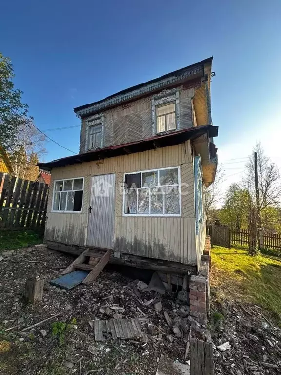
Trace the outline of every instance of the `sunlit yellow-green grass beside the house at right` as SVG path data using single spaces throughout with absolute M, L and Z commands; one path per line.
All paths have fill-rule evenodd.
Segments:
M 214 246 L 211 287 L 217 297 L 260 305 L 281 323 L 280 258 Z

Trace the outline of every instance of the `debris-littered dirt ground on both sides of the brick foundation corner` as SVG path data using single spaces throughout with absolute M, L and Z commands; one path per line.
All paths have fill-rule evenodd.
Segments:
M 160 296 L 141 290 L 137 281 L 116 271 L 103 271 L 90 286 L 70 292 L 49 282 L 72 257 L 33 247 L 4 253 L 0 261 L 0 374 L 132 375 L 155 374 L 161 354 L 186 363 L 190 317 L 177 293 Z M 28 276 L 44 279 L 43 301 L 25 304 L 22 292 Z M 266 292 L 266 291 L 265 291 Z M 157 312 L 155 303 L 161 301 Z M 214 348 L 215 375 L 281 374 L 281 330 L 259 306 L 221 301 L 213 295 L 208 329 Z M 164 311 L 172 321 L 168 325 Z M 20 333 L 54 314 L 61 314 Z M 93 321 L 135 318 L 142 339 L 96 342 Z M 181 337 L 173 328 L 178 327 Z M 220 347 L 226 344 L 226 350 Z

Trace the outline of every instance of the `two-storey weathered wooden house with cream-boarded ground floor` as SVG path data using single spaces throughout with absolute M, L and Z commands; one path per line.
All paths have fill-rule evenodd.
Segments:
M 206 228 L 202 184 L 217 167 L 212 58 L 75 108 L 80 153 L 51 170 L 45 242 L 111 262 L 197 273 Z M 124 187 L 125 184 L 125 187 Z

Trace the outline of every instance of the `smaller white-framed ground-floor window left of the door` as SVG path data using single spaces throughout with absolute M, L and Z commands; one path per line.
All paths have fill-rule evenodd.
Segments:
M 54 181 L 53 212 L 81 212 L 84 178 Z

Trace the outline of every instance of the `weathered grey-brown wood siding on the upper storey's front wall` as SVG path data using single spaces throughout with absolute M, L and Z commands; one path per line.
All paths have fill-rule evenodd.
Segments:
M 192 127 L 191 98 L 195 88 L 183 88 L 180 91 L 181 129 Z M 103 146 L 120 145 L 152 136 L 151 96 L 134 102 L 119 105 L 102 112 L 104 115 Z M 86 151 L 87 118 L 82 120 L 80 134 L 80 153 Z

